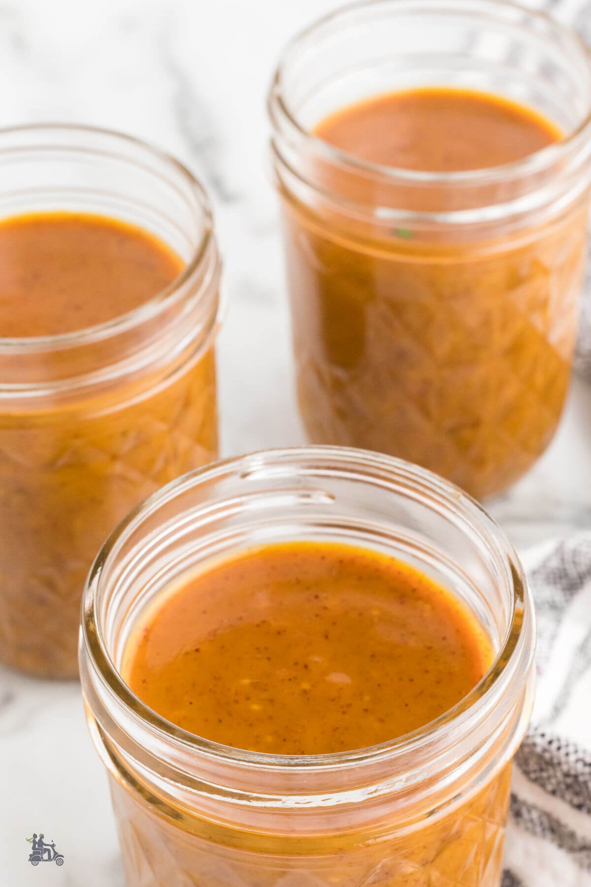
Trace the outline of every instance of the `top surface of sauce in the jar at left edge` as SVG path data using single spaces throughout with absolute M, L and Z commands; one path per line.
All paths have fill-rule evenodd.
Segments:
M 151 233 L 85 213 L 0 223 L 0 336 L 73 333 L 139 308 L 183 271 Z

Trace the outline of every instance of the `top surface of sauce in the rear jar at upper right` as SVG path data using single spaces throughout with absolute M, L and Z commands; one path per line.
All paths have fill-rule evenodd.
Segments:
M 562 137 L 509 99 L 447 88 L 366 99 L 330 114 L 315 135 L 364 161 L 424 172 L 502 166 Z

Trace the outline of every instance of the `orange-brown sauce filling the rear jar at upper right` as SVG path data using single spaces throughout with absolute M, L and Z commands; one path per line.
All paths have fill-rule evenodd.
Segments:
M 525 106 L 443 88 L 346 106 L 314 135 L 349 158 L 434 174 L 498 168 L 562 137 Z M 521 179 L 402 186 L 360 169 L 318 160 L 322 193 L 307 200 L 281 189 L 307 435 L 408 459 L 486 497 L 523 475 L 556 430 L 587 194 L 550 221 L 532 214 L 517 227 L 500 219 L 486 232 L 476 224 L 389 228 L 377 224 L 377 208 L 479 208 L 516 197 Z

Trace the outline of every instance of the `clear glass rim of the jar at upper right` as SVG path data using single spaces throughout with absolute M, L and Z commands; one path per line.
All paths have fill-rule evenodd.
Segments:
M 399 4 L 400 3 L 400 7 Z M 299 138 L 310 146 L 312 152 L 319 156 L 323 161 L 332 164 L 334 167 L 350 172 L 353 175 L 367 176 L 381 181 L 384 184 L 406 184 L 414 187 L 424 185 L 425 187 L 436 186 L 467 186 L 478 187 L 479 185 L 494 184 L 502 182 L 505 179 L 515 179 L 518 177 L 529 177 L 542 172 L 544 169 L 550 169 L 557 161 L 560 161 L 564 155 L 576 151 L 579 145 L 585 143 L 591 131 L 591 99 L 587 104 L 587 114 L 573 128 L 568 135 L 546 145 L 540 150 L 525 157 L 503 163 L 494 167 L 482 167 L 480 169 L 458 169 L 446 172 L 407 169 L 405 167 L 386 166 L 380 163 L 364 161 L 354 154 L 347 153 L 330 145 L 329 142 L 315 135 L 314 131 L 304 126 L 299 121 L 298 114 L 289 106 L 284 98 L 284 77 L 289 67 L 291 56 L 299 47 L 304 44 L 308 38 L 315 35 L 317 30 L 324 27 L 338 27 L 342 25 L 346 27 L 346 20 L 349 16 L 354 16 L 357 12 L 364 12 L 368 9 L 380 6 L 391 6 L 392 0 L 357 0 L 357 2 L 346 4 L 338 7 L 333 12 L 329 12 L 321 19 L 315 20 L 311 25 L 299 31 L 297 35 L 287 43 L 284 48 L 282 57 L 276 67 L 276 73 L 271 82 L 268 93 L 268 114 L 276 131 L 285 128 L 291 130 L 292 135 Z M 446 5 L 452 8 L 457 4 L 457 0 L 446 0 Z M 396 12 L 408 11 L 414 5 L 413 0 L 406 2 L 396 2 Z M 484 4 L 483 4 L 484 5 Z M 457 4 L 458 11 L 461 5 Z M 542 10 L 530 9 L 521 4 L 512 3 L 510 0 L 486 0 L 486 6 L 491 10 L 499 10 L 505 12 L 522 12 L 537 20 L 544 27 L 551 29 L 570 40 L 579 50 L 582 57 L 587 59 L 591 67 L 591 48 L 587 46 L 582 37 L 572 28 L 562 25 L 554 20 L 547 12 Z M 437 84 L 440 85 L 440 84 Z M 426 214 L 424 214 L 426 215 Z

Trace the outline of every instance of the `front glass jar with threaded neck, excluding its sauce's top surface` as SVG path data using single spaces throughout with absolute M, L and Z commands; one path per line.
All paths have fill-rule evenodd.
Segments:
M 130 691 L 123 651 L 164 587 L 209 558 L 299 539 L 391 553 L 447 585 L 490 636 L 486 676 L 413 734 L 314 757 L 209 742 Z M 82 601 L 82 691 L 128 887 L 498 887 L 533 648 L 533 604 L 507 539 L 422 468 L 315 447 L 229 459 L 168 484 L 107 540 Z

